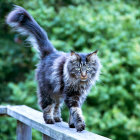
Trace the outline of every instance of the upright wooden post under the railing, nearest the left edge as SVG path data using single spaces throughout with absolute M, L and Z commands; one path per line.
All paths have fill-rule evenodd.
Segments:
M 17 140 L 32 140 L 32 129 L 30 126 L 17 121 Z

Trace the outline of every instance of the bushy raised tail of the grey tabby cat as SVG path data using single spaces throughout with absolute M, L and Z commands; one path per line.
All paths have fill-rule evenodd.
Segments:
M 19 33 L 29 35 L 29 40 L 34 46 L 37 45 L 41 57 L 56 51 L 45 31 L 24 8 L 15 6 L 14 10 L 8 14 L 6 23 Z

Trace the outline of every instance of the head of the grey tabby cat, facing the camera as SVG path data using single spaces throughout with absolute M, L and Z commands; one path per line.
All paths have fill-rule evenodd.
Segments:
M 69 76 L 75 80 L 93 80 L 100 73 L 100 61 L 97 56 L 97 51 L 92 53 L 76 53 L 71 51 L 67 63 L 67 70 Z

